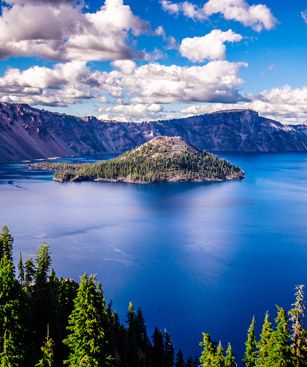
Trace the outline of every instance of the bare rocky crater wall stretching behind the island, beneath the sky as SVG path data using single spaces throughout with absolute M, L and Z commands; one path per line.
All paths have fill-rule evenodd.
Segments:
M 120 153 L 156 136 L 181 136 L 215 152 L 305 152 L 307 126 L 287 126 L 251 110 L 144 123 L 102 122 L 0 103 L 0 161 Z

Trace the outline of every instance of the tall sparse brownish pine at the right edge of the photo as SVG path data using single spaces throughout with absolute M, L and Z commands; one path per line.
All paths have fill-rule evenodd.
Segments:
M 289 311 L 291 321 L 291 347 L 294 356 L 295 367 L 307 366 L 307 338 L 303 327 L 304 318 L 304 286 L 295 287 L 295 303 Z

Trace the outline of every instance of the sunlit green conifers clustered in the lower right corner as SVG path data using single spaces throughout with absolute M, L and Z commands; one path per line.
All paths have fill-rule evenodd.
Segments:
M 245 342 L 243 364 L 246 367 L 305 367 L 307 366 L 307 331 L 303 326 L 303 285 L 296 286 L 295 303 L 287 313 L 277 306 L 277 315 L 272 324 L 268 312 L 265 314 L 259 337 L 256 337 L 256 320 L 253 317 Z M 209 334 L 203 334 L 200 343 L 203 352 L 202 367 L 237 366 L 228 344 L 226 353 L 221 342 L 214 343 Z

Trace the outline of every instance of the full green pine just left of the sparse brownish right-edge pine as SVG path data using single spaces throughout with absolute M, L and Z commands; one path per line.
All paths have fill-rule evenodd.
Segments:
M 293 359 L 290 346 L 290 332 L 285 310 L 277 306 L 276 330 L 272 333 L 272 347 L 267 358 L 268 367 L 291 367 Z

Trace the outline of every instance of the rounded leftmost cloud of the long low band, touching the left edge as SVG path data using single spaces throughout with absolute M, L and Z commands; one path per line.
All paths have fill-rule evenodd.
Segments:
M 94 98 L 97 82 L 85 63 L 72 61 L 54 68 L 8 69 L 0 78 L 0 101 L 67 106 Z

